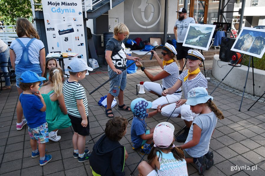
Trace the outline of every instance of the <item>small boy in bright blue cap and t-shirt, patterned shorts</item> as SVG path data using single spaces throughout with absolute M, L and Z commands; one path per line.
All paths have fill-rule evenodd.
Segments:
M 49 142 L 49 130 L 46 122 L 46 104 L 42 94 L 38 92 L 39 84 L 45 80 L 37 73 L 26 71 L 20 76 L 19 87 L 23 92 L 19 96 L 25 119 L 29 126 L 30 146 L 32 148 L 32 158 L 40 156 L 39 165 L 46 165 L 52 155 L 45 155 L 45 143 Z M 37 147 L 39 143 L 39 148 Z

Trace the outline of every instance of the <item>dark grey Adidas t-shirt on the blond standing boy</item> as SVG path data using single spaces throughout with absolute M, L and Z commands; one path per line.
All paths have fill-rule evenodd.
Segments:
M 106 45 L 106 51 L 112 51 L 111 60 L 115 68 L 125 68 L 126 67 L 126 55 L 125 55 L 125 45 L 122 41 L 118 41 L 115 38 L 110 38 Z

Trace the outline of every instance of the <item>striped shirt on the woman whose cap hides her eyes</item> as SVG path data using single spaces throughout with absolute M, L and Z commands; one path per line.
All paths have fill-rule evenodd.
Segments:
M 182 81 L 182 89 L 184 92 L 185 99 L 188 98 L 189 91 L 195 87 L 204 87 L 205 89 L 208 88 L 207 79 L 204 77 L 204 75 L 201 72 L 199 72 L 199 74 L 195 78 L 191 80 L 186 79 L 186 81 L 184 82 L 184 77 L 187 75 L 188 75 L 188 70 L 185 70 L 179 75 L 178 78 Z

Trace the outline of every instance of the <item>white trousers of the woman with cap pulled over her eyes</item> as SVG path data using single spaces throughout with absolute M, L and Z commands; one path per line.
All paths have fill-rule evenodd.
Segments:
M 169 117 L 176 107 L 175 103 L 169 104 L 161 109 L 161 114 L 165 117 Z M 188 104 L 183 104 L 177 107 L 173 112 L 171 117 L 178 117 L 181 114 L 181 119 L 185 121 L 193 121 L 193 118 L 197 117 L 199 114 L 195 114 L 191 111 L 191 106 Z

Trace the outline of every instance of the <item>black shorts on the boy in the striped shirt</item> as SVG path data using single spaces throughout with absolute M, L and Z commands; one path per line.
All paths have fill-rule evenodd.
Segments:
M 87 116 L 87 127 L 83 127 L 81 125 L 82 118 L 72 116 L 68 114 L 69 119 L 71 119 L 72 127 L 74 128 L 74 132 L 82 135 L 82 136 L 88 136 L 89 135 L 89 120 Z

